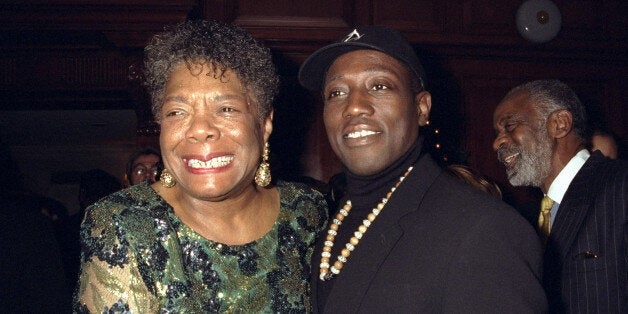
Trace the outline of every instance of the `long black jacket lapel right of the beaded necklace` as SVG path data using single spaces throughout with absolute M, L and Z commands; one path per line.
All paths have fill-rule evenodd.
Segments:
M 339 277 L 332 279 L 337 282 L 327 300 L 326 312 L 358 311 L 378 268 L 403 235 L 403 216 L 419 209 L 423 195 L 441 171 L 427 154 L 419 159 L 351 253 Z

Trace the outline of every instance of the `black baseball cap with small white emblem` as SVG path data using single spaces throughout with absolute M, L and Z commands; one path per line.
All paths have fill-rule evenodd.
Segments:
M 425 88 L 425 71 L 410 43 L 400 32 L 382 26 L 358 26 L 340 41 L 310 55 L 299 69 L 299 82 L 309 90 L 322 89 L 329 66 L 339 56 L 362 49 L 381 51 L 403 62 Z

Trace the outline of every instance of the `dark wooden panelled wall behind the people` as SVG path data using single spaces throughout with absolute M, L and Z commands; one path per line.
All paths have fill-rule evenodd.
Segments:
M 284 78 L 274 135 L 298 138 L 274 151 L 301 154 L 303 172 L 327 180 L 340 164 L 327 143 L 321 100 L 298 86 L 298 67 L 354 25 L 385 25 L 416 45 L 439 105 L 460 108 L 435 115 L 434 123 L 443 132 L 464 125 L 460 136 L 469 162 L 505 182 L 490 145 L 490 117 L 518 83 L 563 79 L 600 108 L 612 131 L 628 137 L 628 2 L 554 2 L 562 29 L 551 42 L 533 44 L 516 30 L 521 0 L 5 0 L 0 3 L 0 105 L 11 110 L 135 108 L 138 143 L 154 142 L 150 105 L 138 84 L 146 40 L 187 17 L 235 23 L 273 50 Z M 295 121 L 307 125 L 309 133 L 300 134 L 304 128 Z

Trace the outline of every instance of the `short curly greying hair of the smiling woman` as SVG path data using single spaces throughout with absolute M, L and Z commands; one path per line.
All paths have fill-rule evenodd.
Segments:
M 272 110 L 279 77 L 270 50 L 237 26 L 188 20 L 153 36 L 144 52 L 144 84 L 157 122 L 160 122 L 166 82 L 181 62 L 188 66 L 190 62 L 208 62 L 216 77 L 232 70 L 256 98 L 260 118 Z

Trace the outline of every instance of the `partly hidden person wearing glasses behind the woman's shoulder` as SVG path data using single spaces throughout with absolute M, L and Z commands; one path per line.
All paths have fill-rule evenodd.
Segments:
M 161 172 L 161 153 L 154 148 L 141 148 L 131 157 L 126 164 L 125 186 L 136 185 L 149 181 L 155 183 Z

